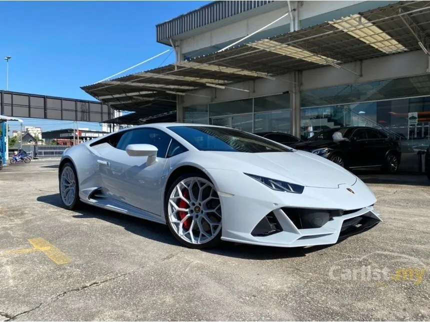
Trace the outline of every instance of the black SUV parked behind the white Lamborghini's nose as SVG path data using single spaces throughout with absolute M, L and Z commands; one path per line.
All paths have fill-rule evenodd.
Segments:
M 364 126 L 323 130 L 292 147 L 317 154 L 347 169 L 380 167 L 385 173 L 395 173 L 401 159 L 398 141 L 380 130 Z

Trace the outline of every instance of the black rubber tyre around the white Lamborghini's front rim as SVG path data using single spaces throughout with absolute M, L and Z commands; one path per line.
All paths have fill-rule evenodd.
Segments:
M 213 248 L 218 246 L 221 243 L 221 234 L 222 234 L 222 227 L 221 229 L 219 229 L 218 233 L 215 235 L 215 237 L 213 237 L 210 241 L 204 243 L 204 244 L 192 244 L 189 243 L 185 240 L 183 240 L 182 238 L 180 238 L 177 233 L 175 232 L 175 230 L 172 227 L 172 224 L 169 220 L 169 214 L 168 214 L 168 203 L 169 203 L 169 199 L 170 199 L 170 195 L 173 191 L 173 189 L 176 187 L 176 185 L 181 182 L 184 179 L 187 178 L 191 178 L 191 177 L 198 177 L 198 178 L 202 178 L 205 179 L 207 181 L 209 181 L 211 184 L 213 184 L 210 179 L 205 176 L 203 173 L 186 173 L 183 174 L 181 176 L 179 176 L 176 180 L 174 180 L 174 182 L 170 185 L 170 187 L 168 187 L 167 193 L 165 195 L 165 200 L 164 200 L 164 218 L 166 221 L 166 224 L 170 230 L 170 233 L 173 235 L 173 237 L 183 246 L 186 246 L 188 248 L 193 248 L 193 249 L 207 249 L 207 248 Z M 222 223 L 221 223 L 222 225 Z M 220 225 L 220 226 L 221 226 Z

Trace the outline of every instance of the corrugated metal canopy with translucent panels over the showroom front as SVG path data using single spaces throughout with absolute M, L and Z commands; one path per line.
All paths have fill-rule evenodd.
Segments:
M 344 63 L 399 52 L 425 52 L 430 50 L 426 47 L 428 30 L 430 1 L 401 1 L 81 88 L 114 109 L 139 112 L 116 119 L 130 122 L 134 121 L 133 117 L 144 119 L 171 113 L 177 95 L 201 96 L 190 93 L 194 89 L 243 90 L 235 88 L 234 83 L 276 79 L 290 71 L 321 66 L 343 68 Z

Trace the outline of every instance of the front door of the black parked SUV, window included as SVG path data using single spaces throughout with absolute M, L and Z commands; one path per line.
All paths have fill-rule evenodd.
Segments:
M 346 143 L 345 156 L 350 167 L 366 167 L 370 164 L 370 148 L 367 145 L 365 128 L 355 129 L 350 136 L 349 142 Z

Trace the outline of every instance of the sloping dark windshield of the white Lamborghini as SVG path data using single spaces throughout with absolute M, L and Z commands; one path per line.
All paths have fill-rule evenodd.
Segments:
M 290 152 L 291 149 L 262 137 L 226 127 L 169 126 L 200 151 Z

